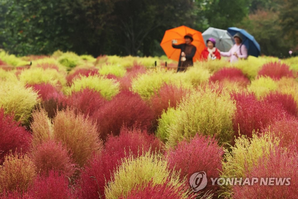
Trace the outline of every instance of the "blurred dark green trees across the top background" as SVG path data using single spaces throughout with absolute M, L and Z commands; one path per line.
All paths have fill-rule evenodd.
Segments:
M 16 55 L 159 56 L 164 31 L 245 28 L 262 54 L 298 50 L 297 0 L 0 0 L 0 48 Z

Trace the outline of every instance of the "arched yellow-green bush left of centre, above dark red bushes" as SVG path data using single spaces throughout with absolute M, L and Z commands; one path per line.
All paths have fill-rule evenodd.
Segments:
M 107 79 L 102 76 L 80 76 L 73 80 L 72 85 L 67 89 L 70 95 L 72 92 L 77 92 L 89 88 L 99 92 L 104 98 L 110 100 L 113 96 L 119 93 L 119 82 L 113 79 Z

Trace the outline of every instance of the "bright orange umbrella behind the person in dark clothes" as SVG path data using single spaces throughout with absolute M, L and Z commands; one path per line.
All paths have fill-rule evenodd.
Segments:
M 201 52 L 206 47 L 202 33 L 192 28 L 188 28 L 186 26 L 172 28 L 164 33 L 164 37 L 162 38 L 160 46 L 162 47 L 169 59 L 179 61 L 181 50 L 172 47 L 172 40 L 176 39 L 178 41 L 177 44 L 182 44 L 184 43 L 184 36 L 186 34 L 193 35 L 192 44 L 197 48 L 195 56 L 193 57 L 193 61 L 195 62 L 200 60 Z

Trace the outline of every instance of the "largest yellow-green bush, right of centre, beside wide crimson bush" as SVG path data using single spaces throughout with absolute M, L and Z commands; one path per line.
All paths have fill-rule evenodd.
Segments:
M 167 147 L 175 146 L 184 138 L 192 138 L 196 133 L 215 136 L 221 144 L 229 143 L 235 109 L 235 102 L 227 93 L 208 87 L 200 89 L 184 98 L 176 110 L 169 109 L 170 112 L 162 115 L 157 134 L 166 139 Z

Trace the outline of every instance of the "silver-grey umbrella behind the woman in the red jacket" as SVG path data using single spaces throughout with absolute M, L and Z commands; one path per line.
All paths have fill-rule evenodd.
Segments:
M 223 52 L 229 51 L 234 45 L 234 39 L 232 35 L 226 30 L 210 27 L 204 31 L 202 35 L 205 43 L 207 43 L 207 39 L 210 37 L 216 39 L 216 47 Z

